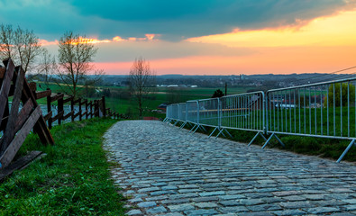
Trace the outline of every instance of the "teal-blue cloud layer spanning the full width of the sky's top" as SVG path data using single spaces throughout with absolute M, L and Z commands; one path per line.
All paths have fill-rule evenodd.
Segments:
M 0 22 L 47 40 L 75 31 L 101 39 L 161 34 L 163 40 L 293 25 L 354 8 L 356 0 L 3 0 Z

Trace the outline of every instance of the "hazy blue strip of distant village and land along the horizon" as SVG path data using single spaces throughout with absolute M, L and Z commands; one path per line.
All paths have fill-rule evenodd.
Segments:
M 289 87 L 295 85 L 306 85 L 330 80 L 351 78 L 355 75 L 348 74 L 289 74 L 289 75 L 231 75 L 231 76 L 183 76 L 162 75 L 156 76 L 157 87 L 212 87 L 222 88 L 224 85 L 250 86 L 259 90 L 270 88 Z M 104 86 L 128 86 L 127 76 L 103 76 Z

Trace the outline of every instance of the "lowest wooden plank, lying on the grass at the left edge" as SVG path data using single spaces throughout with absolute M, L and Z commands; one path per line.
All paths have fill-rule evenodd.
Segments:
M 34 159 L 40 157 L 42 154 L 41 151 L 31 151 L 24 157 L 19 158 L 14 163 L 0 170 L 0 182 L 5 180 L 5 177 L 12 175 L 14 171 L 23 169 L 28 166 Z

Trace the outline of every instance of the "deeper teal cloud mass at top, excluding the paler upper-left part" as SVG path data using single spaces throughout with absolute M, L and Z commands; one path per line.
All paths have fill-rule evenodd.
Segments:
M 74 0 L 81 14 L 119 22 L 121 35 L 144 33 L 181 39 L 242 30 L 293 25 L 315 17 L 351 9 L 343 0 Z M 114 29 L 117 29 L 114 27 Z

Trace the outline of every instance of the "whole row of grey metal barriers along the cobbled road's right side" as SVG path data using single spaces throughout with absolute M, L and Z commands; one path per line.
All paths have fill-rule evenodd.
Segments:
M 187 123 L 189 132 L 215 128 L 216 138 L 226 129 L 256 131 L 251 143 L 259 135 L 266 140 L 278 139 L 278 134 L 329 139 L 350 139 L 337 162 L 356 145 L 356 78 L 342 79 L 311 85 L 272 89 L 266 92 L 234 94 L 167 107 L 165 121 Z M 206 130 L 205 130 L 206 131 Z M 264 135 L 269 135 L 266 139 Z M 224 135 L 225 136 L 225 135 Z

